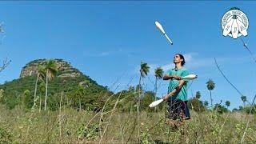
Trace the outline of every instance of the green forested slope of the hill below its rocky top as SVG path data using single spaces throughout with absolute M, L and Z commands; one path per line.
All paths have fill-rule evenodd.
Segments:
M 26 77 L 26 78 L 19 78 L 16 80 L 13 80 L 12 82 L 6 82 L 5 84 L 0 86 L 0 89 L 2 89 L 3 92 L 3 98 L 1 102 L 5 104 L 8 108 L 12 109 L 15 106 L 22 104 L 22 96 L 25 90 L 30 90 L 31 94 L 34 94 L 34 83 L 36 81 L 36 76 Z M 79 86 L 79 83 L 83 82 L 84 85 L 88 86 L 86 87 L 86 97 L 84 98 L 84 106 L 86 104 L 86 99 L 91 98 L 96 101 L 96 99 L 103 93 L 106 93 L 108 91 L 106 87 L 99 86 L 96 82 L 91 81 L 88 77 L 77 77 L 77 78 L 54 78 L 48 85 L 48 108 L 50 110 L 56 110 L 56 103 L 59 103 L 61 94 L 63 92 L 63 98 L 70 98 L 69 105 L 74 106 L 74 98 L 72 98 L 72 94 L 77 90 L 77 87 Z M 40 92 L 37 93 L 37 96 L 42 99 L 42 102 L 44 102 L 45 97 L 43 95 L 43 92 L 45 93 L 45 90 L 42 90 L 42 87 L 45 88 L 45 82 L 39 82 L 39 88 Z M 111 92 L 109 92 L 111 94 Z M 32 102 L 34 99 L 34 96 L 30 95 L 32 97 Z M 38 103 L 39 104 L 39 103 Z M 37 105 L 38 105 L 37 104 Z M 90 103 L 89 103 L 90 104 Z M 38 105 L 39 106 L 39 105 Z M 77 107 L 77 106 L 74 106 Z M 90 109 L 95 109 L 93 107 L 90 107 Z

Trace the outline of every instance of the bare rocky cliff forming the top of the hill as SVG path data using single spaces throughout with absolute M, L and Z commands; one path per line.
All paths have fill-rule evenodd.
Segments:
M 82 75 L 82 72 L 75 69 L 73 66 L 70 65 L 69 62 L 65 62 L 62 59 L 54 59 L 58 67 L 58 77 L 79 77 Z M 46 59 L 37 59 L 32 62 L 29 62 L 22 68 L 20 78 L 25 78 L 31 75 L 35 75 L 38 73 L 38 66 L 42 65 L 46 62 Z

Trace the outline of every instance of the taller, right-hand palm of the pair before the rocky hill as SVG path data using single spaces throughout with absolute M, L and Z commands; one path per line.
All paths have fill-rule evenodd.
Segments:
M 49 60 L 46 62 L 46 98 L 45 98 L 45 110 L 47 105 L 47 90 L 48 90 L 48 80 L 50 81 L 57 74 L 58 67 L 54 60 Z

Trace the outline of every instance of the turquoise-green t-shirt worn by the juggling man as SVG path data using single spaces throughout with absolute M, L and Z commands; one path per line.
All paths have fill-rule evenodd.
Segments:
M 186 70 L 185 68 L 181 68 L 179 70 L 175 69 L 170 69 L 166 72 L 166 74 L 169 75 L 178 75 L 180 77 L 185 77 L 186 75 L 189 75 L 189 71 Z M 178 86 L 178 80 L 176 79 L 170 79 L 169 86 L 168 86 L 168 94 L 175 89 L 176 86 Z M 182 86 L 182 90 L 180 90 L 178 93 L 174 94 L 174 96 L 170 97 L 169 100 L 174 100 L 174 99 L 180 99 L 182 101 L 187 101 L 187 94 L 186 94 L 186 89 L 187 89 L 187 83 L 188 81 L 185 80 L 185 84 Z

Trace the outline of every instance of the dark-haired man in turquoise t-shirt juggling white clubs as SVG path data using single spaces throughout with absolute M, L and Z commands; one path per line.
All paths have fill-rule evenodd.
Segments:
M 170 80 L 168 94 L 163 97 L 163 100 L 169 105 L 168 118 L 170 121 L 168 123 L 170 125 L 182 126 L 184 124 L 184 119 L 190 119 L 186 92 L 188 80 L 182 79 L 182 77 L 189 75 L 189 71 L 183 67 L 185 63 L 185 58 L 182 54 L 175 54 L 175 67 L 168 70 L 163 77 L 163 80 Z M 177 119 L 178 124 L 175 122 Z

